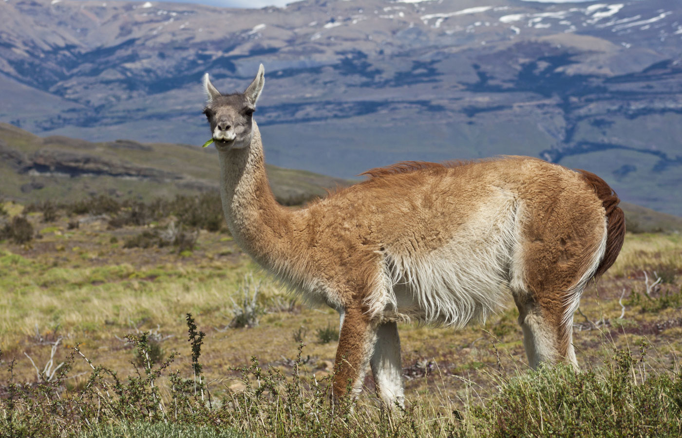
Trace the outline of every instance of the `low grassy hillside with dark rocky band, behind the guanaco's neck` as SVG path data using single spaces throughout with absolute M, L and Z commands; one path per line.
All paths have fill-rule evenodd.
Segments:
M 197 139 L 202 144 L 204 138 Z M 215 148 L 129 140 L 93 143 L 41 138 L 0 123 L 0 193 L 18 202 L 73 201 L 89 195 L 151 200 L 218 188 Z M 324 195 L 349 182 L 340 178 L 267 166 L 280 200 Z

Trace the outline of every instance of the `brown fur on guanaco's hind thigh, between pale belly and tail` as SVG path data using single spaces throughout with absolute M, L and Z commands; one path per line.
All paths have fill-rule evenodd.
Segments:
M 523 175 L 524 170 L 532 172 Z M 589 268 L 602 237 L 601 202 L 581 190 L 580 175 L 541 161 L 520 166 L 525 193 L 533 200 L 526 218 L 524 275 L 530 296 L 520 297 L 531 317 L 553 328 L 557 354 L 565 357 L 571 328 L 563 324 L 567 292 Z M 535 315 L 535 316 L 533 316 Z

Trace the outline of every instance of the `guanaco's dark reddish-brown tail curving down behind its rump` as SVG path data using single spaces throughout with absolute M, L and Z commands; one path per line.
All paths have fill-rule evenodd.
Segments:
M 597 267 L 597 272 L 595 272 L 594 278 L 597 279 L 606 272 L 608 268 L 616 261 L 616 257 L 621 252 L 621 247 L 623 247 L 623 240 L 625 239 L 625 215 L 623 210 L 618 206 L 619 200 L 616 192 L 606 184 L 602 178 L 593 174 L 592 172 L 587 172 L 587 170 L 578 170 L 582 174 L 582 178 L 593 187 L 599 199 L 602 200 L 602 205 L 604 210 L 606 210 L 606 251 L 604 252 L 604 258 L 602 262 Z

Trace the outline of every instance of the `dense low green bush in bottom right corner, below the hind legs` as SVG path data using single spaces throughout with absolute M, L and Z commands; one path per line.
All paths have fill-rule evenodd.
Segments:
M 645 345 L 638 359 L 616 351 L 603 375 L 561 365 L 502 379 L 490 403 L 471 409 L 474 429 L 490 438 L 679 437 L 682 375 L 648 375 Z

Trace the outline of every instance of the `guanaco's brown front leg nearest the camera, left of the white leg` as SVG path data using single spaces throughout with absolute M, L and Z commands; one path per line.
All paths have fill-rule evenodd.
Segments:
M 376 324 L 361 307 L 347 307 L 342 312 L 339 345 L 334 364 L 333 397 L 342 398 L 348 388 L 357 395 L 376 342 Z

